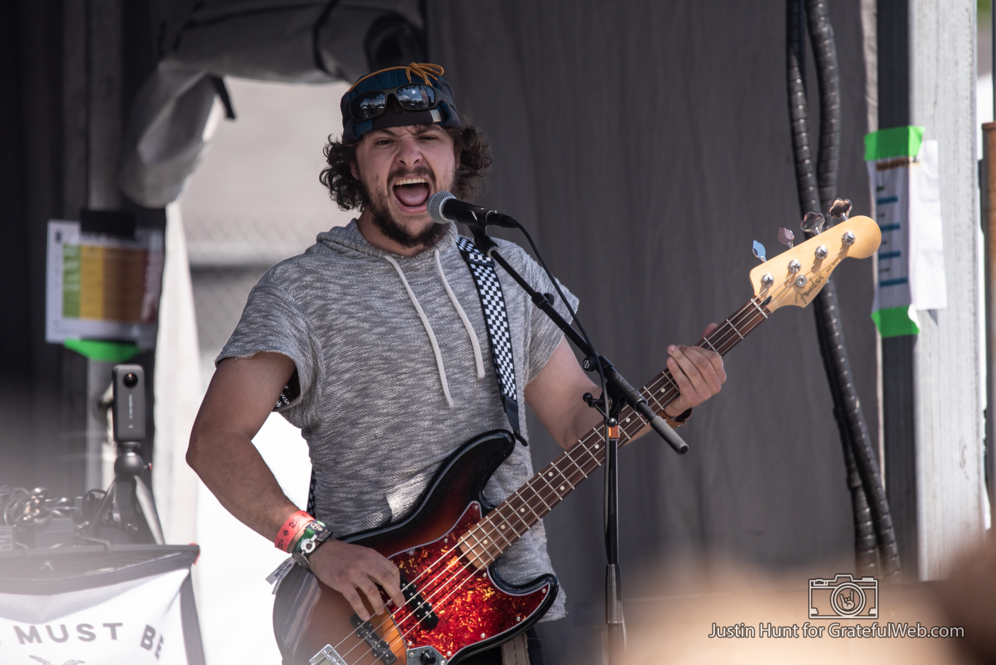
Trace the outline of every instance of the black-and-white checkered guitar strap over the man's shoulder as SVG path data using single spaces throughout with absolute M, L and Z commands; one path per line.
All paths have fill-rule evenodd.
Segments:
M 512 359 L 508 309 L 505 307 L 505 296 L 501 290 L 501 282 L 498 281 L 498 273 L 495 272 L 494 259 L 482 254 L 473 240 L 462 235 L 457 236 L 456 246 L 460 248 L 460 253 L 470 268 L 474 286 L 477 287 L 477 295 L 481 298 L 484 326 L 488 329 L 491 358 L 495 363 L 498 392 L 501 394 L 505 414 L 516 437 L 525 443 L 525 439 L 519 434 L 519 393 L 515 387 L 515 362 Z

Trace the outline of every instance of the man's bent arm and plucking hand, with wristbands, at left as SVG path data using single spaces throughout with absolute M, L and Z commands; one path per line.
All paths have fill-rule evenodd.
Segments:
M 218 364 L 190 433 L 186 460 L 225 508 L 257 533 L 273 540 L 298 510 L 252 444 L 273 411 L 291 375 L 294 361 L 280 353 L 227 358 Z M 368 547 L 330 539 L 311 556 L 315 574 L 350 601 L 365 620 L 383 611 L 376 584 L 395 603 L 404 598 L 397 567 Z

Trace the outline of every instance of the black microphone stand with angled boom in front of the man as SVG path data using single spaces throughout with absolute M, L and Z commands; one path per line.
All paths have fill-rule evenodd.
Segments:
M 517 224 L 518 222 L 516 222 Z M 505 224 L 502 224 L 505 225 Z M 529 295 L 533 304 L 546 314 L 558 328 L 564 331 L 571 342 L 585 354 L 584 368 L 592 372 L 598 369 L 595 350 L 584 337 L 568 323 L 554 308 L 554 297 L 550 293 L 540 293 L 532 284 L 516 271 L 500 253 L 498 244 L 485 232 L 485 224 L 468 223 L 474 234 L 474 244 L 486 256 L 490 256 L 498 265 L 505 269 L 512 279 Z M 606 534 L 606 624 L 608 628 L 609 662 L 616 663 L 622 659 L 625 650 L 625 624 L 622 617 L 622 575 L 619 562 L 619 415 L 623 401 L 646 420 L 650 427 L 678 455 L 688 451 L 688 445 L 681 441 L 669 425 L 654 413 L 639 391 L 634 389 L 622 377 L 609 360 L 598 356 L 606 377 L 606 392 L 600 399 L 595 399 L 591 393 L 584 396 L 589 407 L 602 414 L 606 432 L 606 504 L 605 504 L 605 534 Z M 608 399 L 607 399 L 608 398 Z

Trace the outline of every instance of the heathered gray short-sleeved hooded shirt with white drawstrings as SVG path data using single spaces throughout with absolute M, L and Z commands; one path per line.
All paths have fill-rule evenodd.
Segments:
M 320 233 L 305 253 L 273 266 L 253 287 L 218 356 L 273 351 L 294 361 L 301 394 L 278 410 L 308 442 L 315 516 L 337 535 L 403 517 L 462 444 L 509 429 L 480 299 L 456 237 L 450 224 L 434 247 L 406 257 L 375 249 L 356 220 Z M 554 290 L 521 247 L 497 242 L 535 288 Z M 496 271 L 528 438 L 523 390 L 563 333 L 501 267 Z M 532 476 L 529 449 L 516 446 L 485 496 L 506 499 Z M 497 567 L 513 583 L 553 572 L 543 522 L 509 547 Z M 563 590 L 558 596 L 546 620 L 564 616 Z

